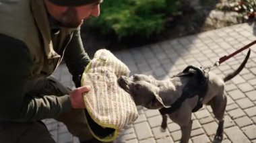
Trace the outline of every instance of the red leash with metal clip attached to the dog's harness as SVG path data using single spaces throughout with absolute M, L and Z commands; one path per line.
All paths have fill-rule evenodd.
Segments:
M 231 58 L 232 56 L 238 54 L 239 52 L 242 52 L 243 50 L 249 48 L 250 46 L 253 46 L 254 44 L 256 44 L 256 40 L 253 41 L 253 42 L 251 42 L 251 43 L 249 43 L 249 44 L 247 44 L 247 45 L 245 45 L 245 46 L 243 46 L 242 48 L 240 48 L 240 49 L 234 51 L 232 54 L 229 54 L 228 56 L 222 56 L 221 58 L 219 58 L 219 60 L 218 60 L 217 62 L 215 62 L 214 65 L 212 65 L 212 66 L 210 66 L 210 67 L 207 67 L 207 68 L 205 68 L 204 70 L 208 70 L 208 71 L 209 71 L 212 67 L 214 67 L 214 66 L 219 66 L 222 62 L 225 62 L 226 60 L 228 60 L 228 59 Z

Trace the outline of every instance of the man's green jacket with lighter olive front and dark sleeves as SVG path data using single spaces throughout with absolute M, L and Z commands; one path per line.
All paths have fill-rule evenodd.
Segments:
M 2 1 L 0 19 L 0 121 L 42 120 L 71 109 L 69 95 L 31 97 L 26 83 L 51 75 L 62 58 L 79 82 L 90 62 L 79 28 L 53 34 L 43 0 Z

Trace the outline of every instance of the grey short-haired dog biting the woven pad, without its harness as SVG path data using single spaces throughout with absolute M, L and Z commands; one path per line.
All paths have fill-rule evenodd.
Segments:
M 222 142 L 224 111 L 227 103 L 227 97 L 224 95 L 224 85 L 226 81 L 234 78 L 243 70 L 250 53 L 251 51 L 249 50 L 242 64 L 233 73 L 224 77 L 224 79 L 221 79 L 212 72 L 207 73 L 207 90 L 203 93 L 203 99 L 199 99 L 199 95 L 187 98 L 173 113 L 167 113 L 170 119 L 181 127 L 182 136 L 180 142 L 189 142 L 192 127 L 191 115 L 198 102 L 202 105 L 210 105 L 212 107 L 214 116 L 218 120 L 218 129 L 214 137 L 214 142 Z M 142 105 L 148 109 L 159 109 L 161 111 L 162 109 L 168 109 L 170 105 L 181 97 L 190 79 L 191 76 L 174 76 L 170 79 L 159 81 L 148 75 L 133 75 L 131 77 L 121 76 L 117 82 L 122 89 L 133 97 L 135 105 Z M 167 115 L 166 113 L 161 113 L 161 115 L 161 130 L 165 132 Z

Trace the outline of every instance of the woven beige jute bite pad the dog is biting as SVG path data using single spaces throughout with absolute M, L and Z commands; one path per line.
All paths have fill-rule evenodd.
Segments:
M 84 103 L 92 120 L 100 126 L 120 130 L 137 119 L 132 97 L 117 83 L 121 75 L 129 76 L 129 72 L 129 68 L 106 49 L 96 51 L 86 67 L 82 85 L 89 85 L 91 90 L 84 93 Z

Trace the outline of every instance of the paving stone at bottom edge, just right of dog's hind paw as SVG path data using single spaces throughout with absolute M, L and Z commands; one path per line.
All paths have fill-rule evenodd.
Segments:
M 228 138 L 231 140 L 231 142 L 236 142 L 236 143 L 249 143 L 250 141 L 247 139 L 247 136 L 243 134 L 243 132 L 237 127 L 231 127 L 231 128 L 226 128 L 224 130 Z

